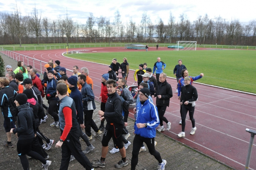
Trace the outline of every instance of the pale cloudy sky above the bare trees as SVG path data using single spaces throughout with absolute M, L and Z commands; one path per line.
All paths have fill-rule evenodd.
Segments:
M 117 10 L 122 23 L 131 18 L 139 23 L 142 14 L 147 12 L 153 23 L 160 17 L 167 24 L 170 11 L 176 22 L 182 13 L 191 21 L 205 14 L 209 18 L 221 17 L 227 21 L 237 18 L 242 24 L 256 20 L 256 0 L 1 0 L 0 11 L 11 13 L 16 2 L 22 15 L 29 15 L 36 7 L 42 17 L 57 19 L 63 17 L 67 9 L 68 15 L 81 23 L 86 22 L 89 13 L 113 22 Z

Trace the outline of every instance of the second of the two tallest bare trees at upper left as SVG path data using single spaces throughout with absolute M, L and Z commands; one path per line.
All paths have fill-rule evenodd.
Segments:
M 35 7 L 33 8 L 33 11 L 31 13 L 30 24 L 36 36 L 37 45 L 39 45 L 39 36 L 41 35 L 41 31 L 42 31 L 42 20 L 41 20 L 41 13 L 39 15 Z

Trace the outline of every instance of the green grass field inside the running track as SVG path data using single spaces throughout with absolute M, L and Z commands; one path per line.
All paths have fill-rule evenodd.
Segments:
M 153 68 L 157 57 L 161 57 L 161 61 L 167 65 L 165 73 L 171 77 L 174 77 L 173 69 L 178 64 L 178 59 L 182 59 L 189 76 L 204 73 L 204 78 L 198 80 L 200 83 L 256 93 L 256 78 L 251 76 L 256 72 L 254 50 L 140 51 L 65 55 L 109 65 L 113 58 L 122 63 L 123 57 L 126 57 L 131 69 L 137 69 L 141 63 L 147 63 L 148 68 Z

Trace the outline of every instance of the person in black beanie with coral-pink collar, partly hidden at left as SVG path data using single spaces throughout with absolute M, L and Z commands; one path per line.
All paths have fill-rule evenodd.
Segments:
M 27 102 L 29 103 L 29 106 L 33 109 L 33 115 L 35 118 L 35 127 L 36 127 L 36 132 L 37 132 L 37 136 L 34 138 L 33 142 L 32 142 L 32 151 L 35 151 L 37 153 L 39 153 L 42 157 L 44 157 L 45 159 L 49 158 L 49 155 L 45 152 L 43 146 L 39 143 L 39 139 L 42 140 L 42 138 L 46 138 L 45 135 L 43 135 L 43 133 L 41 133 L 41 131 L 39 130 L 39 118 L 38 115 L 39 113 L 39 107 L 42 107 L 41 105 L 39 105 L 39 103 L 33 98 L 33 91 L 30 89 L 26 89 L 23 91 L 23 94 L 26 94 L 26 96 L 28 97 Z M 46 138 L 48 139 L 48 138 Z M 54 143 L 54 140 L 50 141 L 49 143 L 52 142 L 52 144 Z

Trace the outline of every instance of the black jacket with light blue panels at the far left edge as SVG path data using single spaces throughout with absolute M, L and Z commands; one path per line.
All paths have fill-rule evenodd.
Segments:
M 2 114 L 5 117 L 12 117 L 16 114 L 16 105 L 14 98 L 17 92 L 12 87 L 4 87 L 0 91 L 0 107 L 2 108 Z

